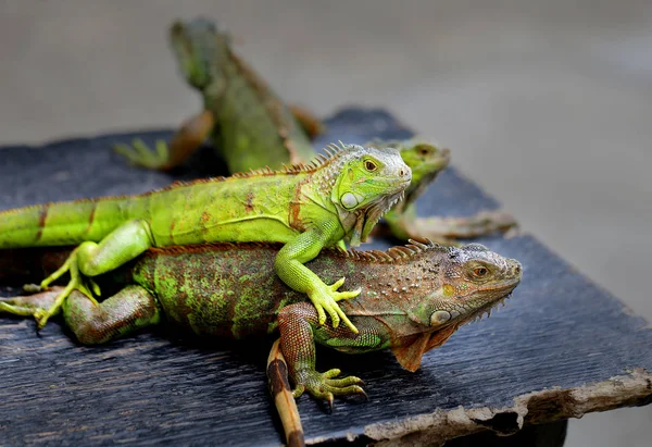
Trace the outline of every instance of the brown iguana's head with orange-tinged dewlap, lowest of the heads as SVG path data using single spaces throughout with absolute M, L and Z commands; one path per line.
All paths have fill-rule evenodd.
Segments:
M 417 244 L 412 241 L 413 244 Z M 489 315 L 518 285 L 522 266 L 480 244 L 461 248 L 421 245 L 423 273 L 419 287 L 428 295 L 413 294 L 406 308 L 410 319 L 424 331 L 403 335 L 393 353 L 403 368 L 415 371 L 422 356 L 441 346 L 456 330 L 471 321 Z

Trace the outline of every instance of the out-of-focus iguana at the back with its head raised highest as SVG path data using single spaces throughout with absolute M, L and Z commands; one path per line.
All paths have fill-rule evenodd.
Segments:
M 187 121 L 170 145 L 155 150 L 141 140 L 116 151 L 133 164 L 170 170 L 210 137 L 229 172 L 303 163 L 316 156 L 292 110 L 230 48 L 229 36 L 209 21 L 176 22 L 170 40 L 186 80 L 203 99 L 203 111 Z M 297 114 L 314 127 L 305 112 Z

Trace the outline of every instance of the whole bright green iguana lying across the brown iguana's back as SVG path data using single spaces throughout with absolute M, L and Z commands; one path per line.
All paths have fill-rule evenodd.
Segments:
M 66 272 L 71 282 L 39 325 L 65 297 L 91 277 L 109 272 L 150 247 L 210 241 L 279 241 L 278 276 L 305 293 L 319 321 L 330 314 L 355 330 L 336 301 L 360 290 L 337 291 L 303 264 L 342 239 L 364 241 L 380 216 L 403 195 L 411 172 L 396 149 L 342 145 L 327 148 L 309 165 L 262 170 L 228 178 L 173 185 L 140 196 L 48 203 L 0 212 L 0 248 L 80 244 L 47 287 Z M 99 241 L 99 244 L 98 244 Z M 99 288 L 87 282 L 99 294 Z

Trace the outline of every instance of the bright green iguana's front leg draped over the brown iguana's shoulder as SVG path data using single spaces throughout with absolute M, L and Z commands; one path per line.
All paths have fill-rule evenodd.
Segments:
M 337 305 L 337 301 L 348 298 L 354 298 L 362 291 L 358 288 L 352 291 L 337 291 L 344 284 L 342 277 L 335 284 L 328 286 L 313 273 L 304 263 L 313 260 L 319 254 L 319 251 L 326 246 L 326 243 L 336 234 L 336 228 L 314 228 L 304 232 L 289 244 L 286 244 L 274 260 L 274 270 L 280 280 L 297 291 L 308 295 L 313 302 L 319 324 L 326 322 L 326 312 L 333 320 L 333 326 L 339 325 L 340 319 L 349 328 L 355 333 L 358 330 L 344 312 Z

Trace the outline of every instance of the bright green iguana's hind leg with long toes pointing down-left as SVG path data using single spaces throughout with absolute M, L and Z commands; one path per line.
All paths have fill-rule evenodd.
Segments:
M 96 276 L 110 272 L 153 246 L 154 239 L 149 224 L 143 220 L 125 222 L 109 233 L 99 244 L 88 240 L 82 243 L 61 269 L 41 282 L 40 287 L 47 288 L 66 271 L 71 273 L 71 281 L 59 294 L 52 306 L 48 310 L 35 314 L 38 326 L 46 325 L 48 319 L 59 310 L 73 289 L 84 286 L 82 275 Z M 91 285 L 93 291 L 99 295 L 99 288 L 95 286 L 95 283 L 91 283 Z

